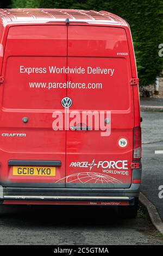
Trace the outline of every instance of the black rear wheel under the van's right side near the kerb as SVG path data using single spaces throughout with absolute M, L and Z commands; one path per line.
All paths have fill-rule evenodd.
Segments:
M 118 206 L 118 214 L 123 218 L 136 218 L 139 198 L 135 198 L 134 205 Z

